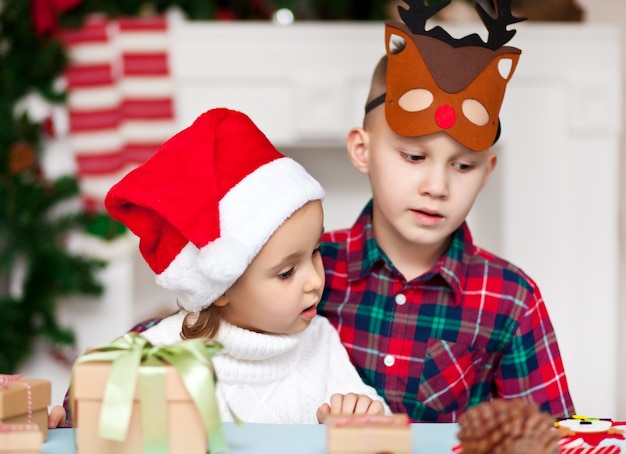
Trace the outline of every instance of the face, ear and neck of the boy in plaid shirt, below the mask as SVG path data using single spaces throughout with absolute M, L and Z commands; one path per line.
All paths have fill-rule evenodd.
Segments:
M 384 109 L 368 117 L 365 130 L 350 133 L 364 135 L 360 151 L 352 150 L 350 135 L 348 141 L 353 163 L 370 178 L 379 244 L 388 254 L 411 246 L 440 254 L 487 182 L 495 154 L 472 151 L 443 132 L 400 136 Z

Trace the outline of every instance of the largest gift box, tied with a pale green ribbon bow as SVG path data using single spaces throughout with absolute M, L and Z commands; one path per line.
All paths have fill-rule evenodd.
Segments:
M 75 363 L 70 386 L 77 454 L 211 453 L 225 448 L 213 341 L 152 346 L 129 333 Z

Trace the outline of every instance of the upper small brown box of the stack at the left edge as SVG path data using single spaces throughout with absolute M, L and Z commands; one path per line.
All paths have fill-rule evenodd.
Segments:
M 48 439 L 49 380 L 0 375 L 0 424 L 35 424 Z

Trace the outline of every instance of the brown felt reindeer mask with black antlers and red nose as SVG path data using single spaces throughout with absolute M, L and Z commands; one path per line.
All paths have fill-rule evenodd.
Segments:
M 404 0 L 398 7 L 404 21 L 385 22 L 388 57 L 387 93 L 372 100 L 366 112 L 385 103 L 387 123 L 402 136 L 445 131 L 475 151 L 488 149 L 499 134 L 504 91 L 521 51 L 503 46 L 513 35 L 510 24 L 523 19 L 511 15 L 511 0 L 496 0 L 493 18 L 479 4 L 475 8 L 489 31 L 484 42 L 477 34 L 453 38 L 426 20 L 450 4 L 425 6 L 425 0 Z M 397 51 L 394 40 L 405 43 Z

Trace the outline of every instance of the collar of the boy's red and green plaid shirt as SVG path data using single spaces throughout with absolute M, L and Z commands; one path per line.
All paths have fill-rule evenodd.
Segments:
M 466 222 L 452 234 L 452 241 L 446 252 L 428 272 L 417 278 L 428 280 L 435 275 L 441 276 L 455 294 L 457 305 L 461 303 L 463 288 L 473 250 L 473 239 Z M 348 280 L 364 277 L 377 264 L 387 263 L 395 268 L 378 247 L 372 226 L 372 200 L 370 200 L 350 230 L 347 241 Z

